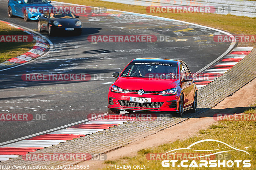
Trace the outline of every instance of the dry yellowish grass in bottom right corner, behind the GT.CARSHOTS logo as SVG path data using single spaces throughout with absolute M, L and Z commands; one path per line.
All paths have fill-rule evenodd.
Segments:
M 244 112 L 245 114 L 256 114 L 255 107 Z M 256 121 L 219 121 L 216 124 L 213 124 L 207 129 L 200 130 L 199 133 L 195 137 L 191 137 L 185 140 L 176 140 L 175 142 L 162 144 L 155 148 L 146 148 L 141 149 L 137 152 L 137 155 L 134 157 L 124 157 L 118 160 L 108 160 L 105 161 L 106 168 L 103 170 L 110 169 L 110 165 L 146 165 L 149 167 L 147 169 L 177 169 L 172 167 L 162 167 L 162 160 L 148 160 L 146 159 L 146 155 L 148 153 L 165 153 L 172 149 L 178 148 L 186 148 L 190 144 L 193 144 L 196 141 L 204 140 L 204 139 L 215 139 L 232 146 L 235 146 L 239 149 L 245 150 L 245 147 L 249 147 L 246 151 L 250 154 L 246 154 L 244 152 L 229 152 L 227 160 L 251 160 L 251 167 L 243 168 L 240 166 L 237 168 L 236 166 L 230 167 L 228 169 L 256 169 Z M 226 145 L 218 144 L 216 142 L 206 142 L 195 145 L 193 149 L 195 150 L 213 150 L 213 149 L 230 149 Z M 184 151 L 183 151 L 184 152 Z M 183 153 L 177 152 L 177 153 Z M 188 153 L 186 150 L 184 153 Z M 191 153 L 200 153 L 196 151 L 192 151 Z M 209 152 L 210 153 L 210 152 Z M 221 160 L 223 161 L 223 160 Z M 191 163 L 191 160 L 188 161 Z M 178 161 L 180 163 L 180 161 Z M 189 165 L 188 163 L 188 165 Z M 199 160 L 196 161 L 199 164 Z M 176 165 L 178 165 L 176 163 Z M 209 165 L 209 164 L 208 164 Z M 242 165 L 242 164 L 241 164 Z M 109 168 L 107 168 L 109 167 Z M 131 168 L 133 169 L 133 168 Z M 178 169 L 196 169 L 196 168 L 178 168 Z M 198 169 L 198 168 L 197 168 Z M 207 169 L 205 167 L 200 167 L 200 169 Z M 227 169 L 227 167 L 220 168 L 210 168 L 210 169 Z

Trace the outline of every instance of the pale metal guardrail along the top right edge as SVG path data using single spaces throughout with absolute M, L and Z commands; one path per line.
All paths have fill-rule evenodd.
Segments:
M 256 17 L 256 1 L 242 0 L 101 0 L 140 6 L 219 6 L 228 7 L 228 13 L 236 16 Z M 146 10 L 145 10 L 146 11 Z M 220 13 L 220 14 L 228 14 Z

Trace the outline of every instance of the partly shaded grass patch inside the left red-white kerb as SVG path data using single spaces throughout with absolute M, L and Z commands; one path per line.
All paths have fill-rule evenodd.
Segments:
M 0 35 L 28 35 L 20 29 L 0 22 Z M 0 42 L 0 63 L 29 51 L 35 42 Z

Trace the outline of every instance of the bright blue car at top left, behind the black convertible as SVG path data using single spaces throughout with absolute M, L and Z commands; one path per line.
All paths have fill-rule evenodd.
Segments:
M 42 14 L 37 7 L 52 7 L 50 3 L 49 0 L 9 0 L 7 14 L 22 17 L 25 21 L 37 20 Z

